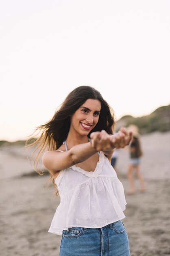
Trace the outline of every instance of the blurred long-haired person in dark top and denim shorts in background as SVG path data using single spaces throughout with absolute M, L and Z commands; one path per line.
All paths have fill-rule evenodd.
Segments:
M 140 172 L 140 160 L 141 156 L 143 155 L 142 149 L 141 149 L 141 143 L 140 143 L 140 138 L 139 138 L 139 132 L 138 128 L 135 125 L 130 125 L 128 127 L 128 130 L 131 130 L 133 133 L 133 137 L 131 140 L 131 143 L 129 145 L 129 150 L 130 150 L 130 159 L 129 159 L 129 166 L 127 170 L 127 177 L 129 180 L 130 184 L 130 189 L 128 191 L 128 194 L 133 194 L 135 193 L 135 180 L 133 177 L 133 171 L 135 171 L 137 178 L 140 183 L 140 192 L 145 192 L 145 184 L 144 184 L 144 179 L 142 177 L 142 174 Z

